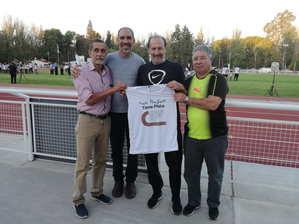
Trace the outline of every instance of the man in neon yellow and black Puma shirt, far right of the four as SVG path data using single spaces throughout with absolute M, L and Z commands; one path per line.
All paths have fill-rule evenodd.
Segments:
M 190 216 L 201 207 L 200 175 L 203 160 L 209 175 L 208 217 L 218 219 L 220 192 L 227 148 L 225 97 L 228 92 L 225 77 L 212 70 L 211 49 L 199 45 L 192 52 L 196 75 L 187 78 L 188 94 L 176 93 L 174 100 L 187 106 L 184 133 L 184 178 L 188 185 L 188 204 L 183 214 Z

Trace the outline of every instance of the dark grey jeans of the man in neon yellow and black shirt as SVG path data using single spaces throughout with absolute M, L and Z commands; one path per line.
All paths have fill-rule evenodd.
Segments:
M 227 145 L 227 135 L 205 140 L 184 135 L 184 178 L 188 186 L 188 204 L 193 206 L 201 204 L 200 173 L 203 160 L 205 160 L 209 176 L 206 202 L 209 207 L 216 208 L 219 206 Z

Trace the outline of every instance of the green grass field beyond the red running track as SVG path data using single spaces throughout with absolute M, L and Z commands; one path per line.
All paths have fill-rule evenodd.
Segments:
M 74 87 L 72 78 L 68 74 L 57 76 L 50 75 L 50 70 L 39 70 L 39 74 L 28 74 L 26 79 L 22 76 L 22 85 L 37 86 L 67 86 Z M 19 84 L 20 74 L 17 74 Z M 238 82 L 228 80 L 229 95 L 244 96 L 264 96 L 272 86 L 273 74 L 240 74 Z M 10 84 L 9 74 L 0 74 L 0 85 Z M 17 84 L 17 85 L 18 85 Z M 274 86 L 280 97 L 298 98 L 299 97 L 299 76 L 275 75 Z M 273 96 L 277 96 L 276 94 Z

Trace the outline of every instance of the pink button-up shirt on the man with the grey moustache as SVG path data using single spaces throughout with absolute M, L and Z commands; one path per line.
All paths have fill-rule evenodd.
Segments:
M 86 101 L 93 93 L 102 92 L 111 88 L 111 72 L 107 66 L 103 66 L 102 75 L 95 69 L 92 62 L 83 64 L 78 78 L 73 79 L 78 92 L 77 110 L 90 114 L 107 114 L 110 111 L 111 96 L 93 104 L 87 105 Z

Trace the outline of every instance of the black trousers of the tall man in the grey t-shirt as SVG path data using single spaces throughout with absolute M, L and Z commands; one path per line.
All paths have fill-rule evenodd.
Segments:
M 138 175 L 137 154 L 129 154 L 130 152 L 130 137 L 128 113 L 111 113 L 111 133 L 110 142 L 112 148 L 113 160 L 113 177 L 115 181 L 121 181 L 126 177 L 127 183 L 132 183 Z M 128 161 L 125 175 L 123 174 L 123 147 L 127 141 Z

